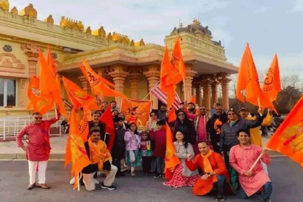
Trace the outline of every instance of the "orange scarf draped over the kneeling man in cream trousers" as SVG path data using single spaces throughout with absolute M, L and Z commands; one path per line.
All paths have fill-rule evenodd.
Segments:
M 91 164 L 98 164 L 98 169 L 103 169 L 103 163 L 106 161 L 112 161 L 110 151 L 107 149 L 104 141 L 99 140 L 97 144 L 91 141 L 90 138 L 87 140 L 89 145 L 90 162 Z

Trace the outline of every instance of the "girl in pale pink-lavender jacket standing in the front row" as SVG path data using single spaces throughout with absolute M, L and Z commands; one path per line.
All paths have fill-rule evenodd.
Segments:
M 130 129 L 125 132 L 124 140 L 126 144 L 126 163 L 131 166 L 131 176 L 135 176 L 135 167 L 141 166 L 141 158 L 138 148 L 140 148 L 141 137 L 138 135 L 136 124 L 130 124 Z

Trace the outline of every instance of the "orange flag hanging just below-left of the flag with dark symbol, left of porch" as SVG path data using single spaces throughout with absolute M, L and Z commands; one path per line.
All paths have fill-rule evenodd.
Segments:
M 74 108 L 85 107 L 88 110 L 98 110 L 100 109 L 95 104 L 95 99 L 93 96 L 87 94 L 86 91 L 82 90 L 75 83 L 69 79 L 63 77 L 63 83 L 68 92 L 69 98 L 73 103 Z

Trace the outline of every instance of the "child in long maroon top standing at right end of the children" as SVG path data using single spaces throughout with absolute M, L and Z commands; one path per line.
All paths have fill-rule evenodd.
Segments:
M 157 122 L 158 130 L 156 132 L 150 131 L 150 139 L 155 141 L 154 149 L 154 163 L 151 168 L 152 171 L 155 171 L 155 178 L 159 178 L 163 172 L 163 164 L 166 151 L 166 130 L 165 130 L 165 121 L 160 120 Z

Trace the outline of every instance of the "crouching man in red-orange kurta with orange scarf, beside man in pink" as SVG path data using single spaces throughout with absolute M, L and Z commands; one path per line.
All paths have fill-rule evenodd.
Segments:
M 193 159 L 193 155 L 189 154 L 185 161 L 189 170 L 194 171 L 201 168 L 205 173 L 198 179 L 192 189 L 194 195 L 205 195 L 209 193 L 214 184 L 217 185 L 217 201 L 224 201 L 223 186 L 228 180 L 228 172 L 225 167 L 222 156 L 212 151 L 207 142 L 200 142 L 198 144 L 200 154 Z M 193 159 L 192 161 L 190 161 Z

